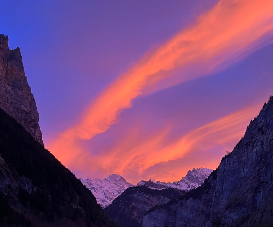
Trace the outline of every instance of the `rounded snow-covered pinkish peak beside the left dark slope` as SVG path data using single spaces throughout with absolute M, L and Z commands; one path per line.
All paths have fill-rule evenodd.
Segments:
M 112 174 L 102 180 L 87 178 L 80 179 L 80 181 L 91 190 L 102 208 L 109 206 L 125 189 L 135 187 L 135 185 L 125 181 L 123 177 L 117 174 Z

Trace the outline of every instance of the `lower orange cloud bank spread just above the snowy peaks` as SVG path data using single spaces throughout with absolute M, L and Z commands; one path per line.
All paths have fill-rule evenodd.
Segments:
M 231 151 L 243 136 L 246 126 L 250 119 L 257 115 L 260 106 L 259 103 L 228 114 L 176 138 L 171 143 L 166 140 L 171 130 L 169 125 L 149 136 L 141 136 L 141 131 L 130 129 L 128 131 L 131 133 L 126 137 L 121 138 L 112 147 L 103 148 L 104 150 L 96 155 L 88 153 L 83 147 L 80 154 L 73 153 L 75 147 L 69 148 L 70 145 L 65 146 L 62 151 L 67 152 L 68 149 L 69 154 L 73 154 L 73 161 L 69 162 L 72 169 L 98 171 L 104 177 L 117 173 L 132 183 L 148 178 L 178 181 L 193 167 L 205 165 L 207 168 L 216 168 L 225 151 Z M 223 147 L 223 150 L 219 151 L 220 155 L 216 158 L 208 157 L 206 152 L 219 145 Z M 199 159 L 196 155 L 202 158 Z M 184 158 L 192 160 L 190 166 L 187 164 L 173 166 L 173 161 Z M 194 162 L 194 159 L 197 161 Z M 198 166 L 193 166 L 194 163 Z M 160 164 L 161 167 L 154 173 L 150 168 L 156 164 Z

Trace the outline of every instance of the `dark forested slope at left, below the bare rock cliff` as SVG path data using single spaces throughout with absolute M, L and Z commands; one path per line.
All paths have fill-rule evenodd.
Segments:
M 0 226 L 116 226 L 93 194 L 0 109 Z

